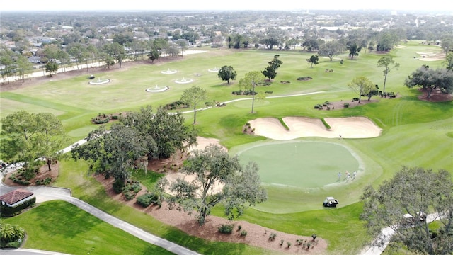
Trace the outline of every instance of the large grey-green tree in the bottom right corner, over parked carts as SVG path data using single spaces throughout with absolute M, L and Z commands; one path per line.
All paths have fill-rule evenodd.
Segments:
M 453 182 L 448 171 L 403 168 L 384 181 L 376 190 L 367 186 L 361 220 L 367 232 L 378 237 L 384 227 L 395 234 L 391 244 L 403 244 L 420 254 L 451 254 L 453 252 Z M 439 223 L 428 227 L 424 215 L 432 213 Z M 407 216 L 411 227 L 402 226 Z M 377 239 L 382 242 L 382 239 Z

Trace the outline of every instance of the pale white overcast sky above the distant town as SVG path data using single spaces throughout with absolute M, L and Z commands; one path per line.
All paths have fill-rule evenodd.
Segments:
M 396 11 L 442 10 L 453 13 L 451 0 L 5 0 L 0 11 L 192 11 L 192 10 L 360 10 Z

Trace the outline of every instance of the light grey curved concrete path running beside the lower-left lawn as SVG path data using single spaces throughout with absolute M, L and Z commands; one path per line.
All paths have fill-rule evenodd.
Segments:
M 4 183 L 0 181 L 0 194 L 3 195 L 9 191 L 16 189 L 17 187 L 10 187 L 5 186 Z M 25 188 L 28 191 L 32 191 L 35 193 L 36 202 L 41 203 L 47 200 L 64 200 L 68 203 L 76 205 L 78 208 L 90 213 L 91 215 L 98 217 L 99 219 L 107 222 L 113 227 L 117 227 L 122 229 L 123 231 L 134 235 L 135 237 L 142 239 L 144 242 L 148 242 L 149 244 L 154 244 L 156 246 L 161 246 L 162 248 L 166 249 L 167 251 L 171 251 L 174 254 L 181 254 L 181 255 L 198 255 L 197 252 L 191 251 L 183 246 L 170 242 L 166 239 L 162 239 L 161 237 L 156 237 L 154 234 L 149 234 L 148 232 L 140 229 L 139 227 L 135 227 L 123 220 L 118 219 L 117 217 L 113 217 L 98 208 L 95 208 L 93 205 L 90 205 L 78 198 L 74 198 L 71 196 L 71 191 L 67 188 L 55 188 L 55 187 L 46 187 L 46 186 L 29 186 L 29 187 L 21 187 Z M 3 254 L 4 251 L 2 250 L 1 253 Z

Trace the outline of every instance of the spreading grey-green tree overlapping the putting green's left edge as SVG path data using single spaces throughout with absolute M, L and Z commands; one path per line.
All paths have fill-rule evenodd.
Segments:
M 204 150 L 196 150 L 183 166 L 185 174 L 192 174 L 194 181 L 177 179 L 171 183 L 171 191 L 176 195 L 170 200 L 171 208 L 195 210 L 200 225 L 210 215 L 211 208 L 223 203 L 225 215 L 232 220 L 239 217 L 248 205 L 256 205 L 267 200 L 265 190 L 260 186 L 258 166 L 250 163 L 246 167 L 239 164 L 238 157 L 230 157 L 222 147 L 209 145 Z M 224 186 L 216 192 L 214 188 Z

